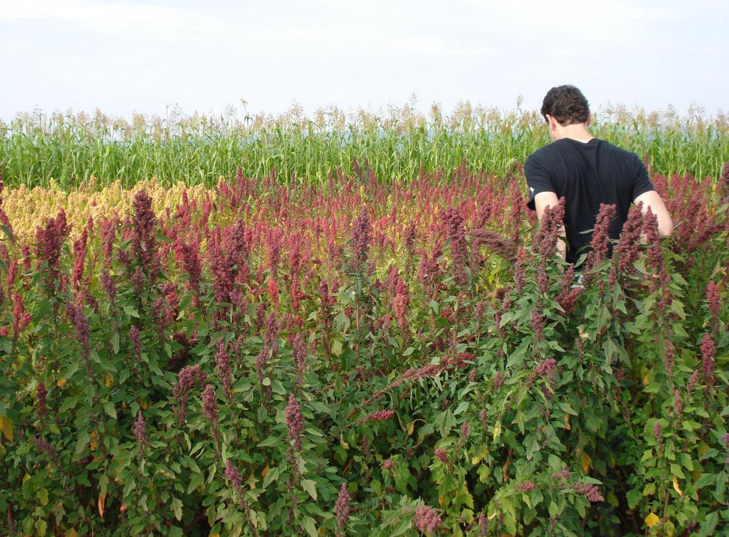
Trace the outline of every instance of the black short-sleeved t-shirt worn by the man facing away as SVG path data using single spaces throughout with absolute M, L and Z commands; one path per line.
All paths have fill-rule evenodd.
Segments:
M 554 141 L 529 155 L 524 174 L 529 184 L 527 205 L 532 210 L 539 192 L 565 197 L 566 260 L 570 263 L 586 251 L 580 248 L 589 248 L 601 203 L 617 206 L 617 217 L 610 224 L 610 238 L 617 239 L 633 200 L 654 189 L 638 155 L 598 138 L 586 143 L 572 138 Z

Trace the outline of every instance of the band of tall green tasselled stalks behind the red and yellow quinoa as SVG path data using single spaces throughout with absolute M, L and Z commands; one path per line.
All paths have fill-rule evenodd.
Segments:
M 717 178 L 729 154 L 722 114 L 707 120 L 698 109 L 680 117 L 673 109 L 631 114 L 618 107 L 595 117 L 594 136 L 647 157 L 658 173 Z M 0 170 L 11 187 L 48 187 L 55 179 L 65 189 L 90 176 L 99 186 L 120 179 L 130 187 L 152 177 L 213 186 L 238 168 L 246 177 L 276 170 L 286 184 L 295 178 L 325 184 L 335 170 L 356 175 L 360 166 L 382 179 L 412 179 L 423 171 L 450 173 L 464 161 L 503 176 L 549 141 L 537 111 L 469 103 L 448 117 L 437 106 L 429 116 L 411 106 L 349 115 L 323 109 L 311 118 L 297 108 L 276 118 L 241 118 L 230 109 L 219 117 L 173 111 L 131 122 L 101 112 L 34 113 L 0 122 Z

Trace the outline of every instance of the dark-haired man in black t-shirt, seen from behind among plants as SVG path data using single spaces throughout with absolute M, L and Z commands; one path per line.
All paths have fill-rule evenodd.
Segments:
M 617 207 L 610 238 L 620 237 L 631 203 L 639 202 L 643 203 L 643 213 L 650 207 L 658 217 L 659 235 L 671 235 L 671 215 L 653 188 L 643 162 L 635 153 L 590 135 L 592 114 L 577 87 L 564 85 L 549 90 L 542 103 L 542 116 L 553 143 L 524 162 L 529 184 L 527 205 L 537 211 L 541 221 L 545 208 L 565 197 L 561 235 L 566 236 L 566 244 L 558 241 L 562 259 L 577 262 L 581 248 L 590 245 L 592 232 L 585 231 L 595 226 L 601 203 L 615 203 Z

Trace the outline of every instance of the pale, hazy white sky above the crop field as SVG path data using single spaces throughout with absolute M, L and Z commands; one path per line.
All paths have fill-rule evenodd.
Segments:
M 726 0 L 0 0 L 0 119 L 294 103 L 729 111 Z

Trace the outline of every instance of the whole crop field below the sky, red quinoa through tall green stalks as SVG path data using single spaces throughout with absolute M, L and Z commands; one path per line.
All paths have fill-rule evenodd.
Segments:
M 729 531 L 729 120 L 610 109 L 583 286 L 539 114 L 0 123 L 0 533 Z

